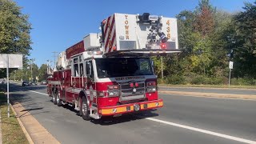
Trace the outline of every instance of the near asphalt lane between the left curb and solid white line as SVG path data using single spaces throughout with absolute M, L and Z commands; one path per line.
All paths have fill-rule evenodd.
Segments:
M 22 105 L 62 143 L 234 143 L 226 138 L 151 122 L 134 115 L 86 122 L 70 106 L 58 107 L 48 96 L 23 90 Z M 15 94 L 14 98 L 15 98 Z M 158 111 L 150 117 L 157 118 Z

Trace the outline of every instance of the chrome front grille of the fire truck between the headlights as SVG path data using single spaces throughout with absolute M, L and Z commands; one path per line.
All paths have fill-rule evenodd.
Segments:
M 145 98 L 145 82 L 137 82 L 138 87 L 130 87 L 130 82 L 120 84 L 121 101 Z M 134 89 L 136 90 L 134 92 Z

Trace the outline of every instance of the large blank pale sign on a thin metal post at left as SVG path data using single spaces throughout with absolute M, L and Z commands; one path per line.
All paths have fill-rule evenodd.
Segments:
M 0 68 L 6 68 L 8 118 L 10 118 L 9 68 L 22 68 L 22 66 L 22 54 L 0 54 Z

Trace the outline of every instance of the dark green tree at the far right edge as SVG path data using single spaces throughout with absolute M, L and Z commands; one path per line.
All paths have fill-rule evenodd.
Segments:
M 256 78 L 256 2 L 245 3 L 234 17 L 234 72 L 237 77 Z

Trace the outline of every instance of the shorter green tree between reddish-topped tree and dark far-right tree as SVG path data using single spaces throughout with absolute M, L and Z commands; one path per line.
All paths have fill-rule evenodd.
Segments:
M 210 34 L 212 41 L 212 54 L 214 55 L 210 62 L 210 75 L 216 77 L 228 77 L 228 62 L 230 61 L 227 54 L 230 53 L 232 42 L 230 36 L 234 35 L 234 24 L 232 19 L 234 14 L 224 10 L 216 10 L 214 13 L 214 31 Z

